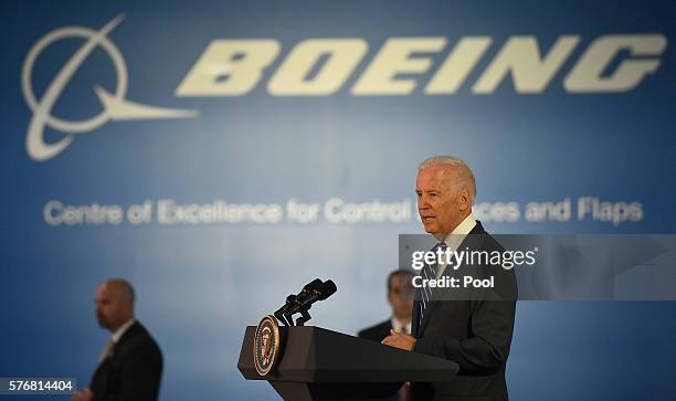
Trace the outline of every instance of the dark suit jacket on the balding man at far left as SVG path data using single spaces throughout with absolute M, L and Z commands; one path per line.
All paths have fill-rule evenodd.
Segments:
M 138 321 L 97 367 L 89 388 L 95 401 L 155 401 L 162 376 L 162 352 Z

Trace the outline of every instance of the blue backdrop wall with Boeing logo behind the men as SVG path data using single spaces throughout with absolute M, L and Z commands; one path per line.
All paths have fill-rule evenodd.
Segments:
M 397 235 L 422 232 L 416 165 L 433 155 L 473 167 L 477 215 L 494 233 L 676 226 L 673 2 L 27 1 L 0 9 L 0 377 L 86 384 L 108 336 L 94 316 L 96 284 L 124 276 L 165 355 L 162 400 L 275 399 L 236 370 L 244 327 L 315 277 L 339 287 L 313 309 L 315 325 L 356 333 L 384 319 Z M 466 75 L 444 75 L 458 80 L 456 89 L 430 94 L 458 42 L 477 36 L 489 41 L 466 48 L 478 52 L 475 63 L 458 52 L 452 64 L 466 65 Z M 398 38 L 413 48 L 388 56 Z M 233 40 L 247 42 L 230 54 Z M 254 60 L 251 40 L 262 40 L 270 59 L 261 76 L 239 68 Z M 316 57 L 294 55 L 311 50 L 300 45 L 307 41 L 320 49 Z M 335 43 L 348 50 L 331 56 Z M 583 63 L 592 49 L 596 56 Z M 560 60 L 545 63 L 548 54 Z M 627 72 L 638 64 L 649 72 Z M 380 70 L 367 74 L 373 65 Z M 584 66 L 587 78 L 573 85 Z M 636 80 L 623 87 L 632 76 L 619 71 Z M 192 72 L 202 83 L 179 91 Z M 250 87 L 235 93 L 237 80 Z M 356 93 L 360 82 L 376 93 Z M 405 87 L 382 93 L 393 82 Z M 605 212 L 580 215 L 584 197 L 633 212 L 615 222 Z M 199 221 L 180 223 L 160 217 L 162 200 L 265 204 L 268 214 L 213 222 L 202 208 Z M 309 205 L 307 221 L 291 201 Z M 345 207 L 369 202 L 400 213 L 357 219 Z M 109 207 L 109 220 L 77 219 L 94 203 Z M 557 203 L 559 219 L 528 213 Z M 675 312 L 670 302 L 521 302 L 510 395 L 673 399 Z

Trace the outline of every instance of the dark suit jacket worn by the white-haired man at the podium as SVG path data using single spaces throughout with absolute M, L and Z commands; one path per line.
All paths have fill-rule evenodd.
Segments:
M 478 221 L 457 251 L 466 247 L 487 252 L 504 251 Z M 413 304 L 412 330 L 418 339 L 414 350 L 460 365 L 458 376 L 452 381 L 413 383 L 415 401 L 508 399 L 505 367 L 511 345 L 517 298 L 514 270 L 461 265 L 458 270 L 447 266 L 444 271 L 444 276 L 462 275 L 494 275 L 496 289 L 467 289 L 462 293 L 462 300 L 457 300 L 461 293 L 456 289 L 433 288 L 432 302 L 421 323 L 420 300 Z M 456 300 L 452 300 L 454 297 Z M 420 299 L 420 294 L 416 299 Z

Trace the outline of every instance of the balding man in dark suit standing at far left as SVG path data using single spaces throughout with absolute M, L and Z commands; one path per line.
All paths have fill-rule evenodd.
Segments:
M 162 374 L 162 353 L 134 318 L 134 288 L 108 279 L 96 289 L 96 318 L 113 336 L 104 348 L 89 389 L 73 401 L 154 401 Z

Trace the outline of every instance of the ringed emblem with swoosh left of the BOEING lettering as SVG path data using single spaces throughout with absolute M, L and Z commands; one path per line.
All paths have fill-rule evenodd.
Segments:
M 99 31 L 82 27 L 62 28 L 40 39 L 30 50 L 23 63 L 21 88 L 25 102 L 33 112 L 33 118 L 29 125 L 25 139 L 27 151 L 33 160 L 42 161 L 53 158 L 73 143 L 75 135 L 96 129 L 108 120 L 187 118 L 198 115 L 198 113 L 193 110 L 154 107 L 125 99 L 127 93 L 127 66 L 119 49 L 106 38 L 122 20 L 123 15 L 118 15 Z M 85 43 L 77 49 L 75 54 L 73 54 L 61 71 L 59 71 L 42 97 L 38 99 L 32 87 L 33 66 L 38 56 L 50 44 L 70 38 L 82 38 L 85 40 Z M 115 66 L 115 72 L 117 74 L 117 88 L 115 93 L 109 93 L 102 86 L 96 86 L 94 92 L 103 105 L 103 110 L 88 119 L 72 122 L 53 116 L 52 107 L 59 99 L 59 96 L 73 77 L 73 74 L 77 72 L 77 68 L 97 46 L 101 46 L 108 54 Z M 45 125 L 52 129 L 66 134 L 66 136 L 54 144 L 45 143 Z

